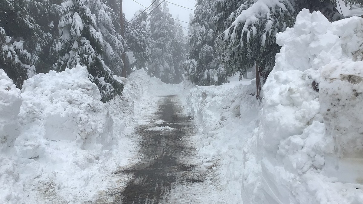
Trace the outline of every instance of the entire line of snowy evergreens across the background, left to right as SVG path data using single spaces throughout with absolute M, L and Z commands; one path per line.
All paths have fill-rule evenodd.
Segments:
M 253 72 L 261 100 L 281 48 L 276 33 L 292 27 L 303 8 L 344 18 L 336 0 L 196 0 L 185 41 L 164 1 L 152 0 L 127 21 L 121 0 L 0 0 L 0 66 L 19 88 L 37 73 L 87 66 L 103 102 L 122 95 L 114 75 L 130 74 L 128 67 L 165 83 L 206 86 Z

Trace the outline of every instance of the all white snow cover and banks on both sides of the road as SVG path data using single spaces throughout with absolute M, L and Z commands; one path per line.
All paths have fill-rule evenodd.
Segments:
M 261 105 L 254 80 L 184 83 L 180 98 L 199 127 L 193 145 L 217 178 L 172 189 L 174 202 L 363 203 L 363 19 L 330 23 L 303 10 L 277 42 Z M 102 103 L 88 77 L 83 67 L 51 71 L 20 91 L 0 69 L 0 203 L 104 194 L 112 172 L 138 162 L 132 131 L 157 96 L 183 89 L 138 70 L 118 78 L 122 97 Z

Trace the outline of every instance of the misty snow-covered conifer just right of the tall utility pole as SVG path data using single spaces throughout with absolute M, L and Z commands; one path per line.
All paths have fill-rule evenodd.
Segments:
M 147 13 L 143 10 L 135 12 L 134 17 L 127 26 L 126 40 L 127 45 L 135 57 L 135 67 L 136 69 L 146 68 L 146 66 L 151 62 L 151 49 L 154 46 L 154 40 L 152 39 L 152 34 L 150 26 L 147 25 Z

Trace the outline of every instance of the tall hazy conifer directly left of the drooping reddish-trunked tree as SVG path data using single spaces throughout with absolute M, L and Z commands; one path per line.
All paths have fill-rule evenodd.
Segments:
M 187 43 L 191 47 L 184 63 L 185 77 L 198 85 L 220 85 L 227 81 L 216 54 L 216 39 L 225 21 L 236 10 L 237 0 L 197 0 Z

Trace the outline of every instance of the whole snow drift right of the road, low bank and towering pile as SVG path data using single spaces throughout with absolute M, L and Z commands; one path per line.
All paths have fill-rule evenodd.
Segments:
M 363 19 L 304 9 L 277 34 L 276 66 L 255 82 L 185 86 L 231 203 L 363 203 Z

